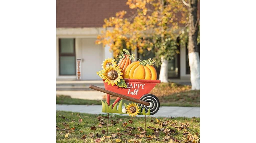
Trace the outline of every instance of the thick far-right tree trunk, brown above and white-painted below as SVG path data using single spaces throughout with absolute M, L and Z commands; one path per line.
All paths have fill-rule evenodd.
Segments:
M 200 89 L 200 60 L 197 47 L 198 22 L 197 21 L 197 0 L 190 0 L 188 3 L 189 12 L 189 33 L 188 33 L 188 61 L 190 66 L 190 81 L 192 90 Z

